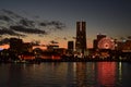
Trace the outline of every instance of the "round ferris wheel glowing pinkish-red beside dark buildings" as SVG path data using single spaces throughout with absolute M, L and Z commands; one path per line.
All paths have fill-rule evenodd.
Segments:
M 102 38 L 98 41 L 98 49 L 115 49 L 115 41 L 109 37 Z

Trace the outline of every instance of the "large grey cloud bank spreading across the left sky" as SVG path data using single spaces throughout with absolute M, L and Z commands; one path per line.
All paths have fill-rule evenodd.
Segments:
M 26 34 L 45 35 L 47 30 L 64 28 L 59 21 L 35 21 L 19 15 L 10 10 L 0 10 L 0 35 L 26 36 Z M 48 29 L 45 29 L 48 28 Z

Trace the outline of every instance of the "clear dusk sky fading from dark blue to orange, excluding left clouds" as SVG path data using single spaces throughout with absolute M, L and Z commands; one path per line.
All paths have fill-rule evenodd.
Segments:
M 131 35 L 130 0 L 0 0 L 0 9 L 34 20 L 59 21 L 66 25 L 44 36 L 28 34 L 22 38 L 24 41 L 40 40 L 47 45 L 55 40 L 60 47 L 67 47 L 68 40 L 74 40 L 76 21 L 86 22 L 88 47 L 99 33 L 117 39 Z

